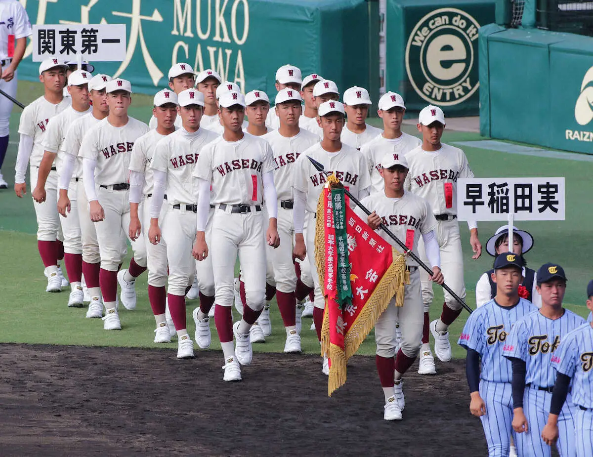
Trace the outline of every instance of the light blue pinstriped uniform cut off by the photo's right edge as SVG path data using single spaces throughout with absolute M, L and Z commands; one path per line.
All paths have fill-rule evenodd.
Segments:
M 576 455 L 593 457 L 593 327 L 589 322 L 562 339 L 552 366 L 572 378 Z

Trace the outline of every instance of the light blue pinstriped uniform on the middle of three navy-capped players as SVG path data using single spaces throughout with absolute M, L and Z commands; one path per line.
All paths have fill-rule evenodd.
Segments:
M 551 448 L 541 439 L 541 430 L 550 413 L 551 388 L 556 381 L 556 372 L 551 359 L 566 334 L 585 322 L 585 319 L 568 309 L 562 317 L 549 319 L 540 311 L 519 319 L 509 334 L 503 355 L 525 362 L 525 391 L 523 411 L 527 418 L 527 432 L 518 433 L 515 445 L 517 453 L 524 457 L 550 457 Z M 576 455 L 574 440 L 575 407 L 570 394 L 558 417 L 558 452 L 561 457 Z

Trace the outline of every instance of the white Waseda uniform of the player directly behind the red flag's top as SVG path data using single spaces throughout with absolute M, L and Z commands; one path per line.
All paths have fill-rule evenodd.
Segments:
M 335 172 L 336 177 L 342 181 L 344 187 L 356 199 L 368 195 L 368 188 L 371 186 L 371 177 L 369 176 L 368 167 L 362 154 L 345 144 L 342 144 L 342 149 L 338 152 L 327 152 L 321 147 L 321 143 L 317 143 L 299 155 L 295 163 L 292 186 L 295 190 L 304 192 L 307 195 L 305 223 L 308 229 L 305 233 L 307 236 L 305 245 L 310 259 L 315 286 L 315 307 L 324 309 L 325 301 L 321 293 L 317 266 L 315 264 L 314 227 L 317 202 L 323 190 L 323 184 L 326 183 L 326 175 L 324 172 L 317 171 L 307 156 L 311 156 L 311 158 L 322 164 L 325 171 Z M 353 203 L 351 203 L 351 206 L 353 206 Z

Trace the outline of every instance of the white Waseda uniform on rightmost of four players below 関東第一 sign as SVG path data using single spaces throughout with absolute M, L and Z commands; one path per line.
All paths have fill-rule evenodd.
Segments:
M 127 235 L 130 225 L 130 200 L 128 174 L 130 155 L 136 140 L 148 133 L 144 122 L 129 117 L 123 127 L 114 127 L 109 117 L 100 120 L 82 139 L 80 152 L 83 158 L 82 174 L 89 202 L 98 200 L 105 218 L 95 222 L 101 268 L 117 271 L 123 257 L 122 231 Z M 134 260 L 146 266 L 144 238 L 130 239 Z

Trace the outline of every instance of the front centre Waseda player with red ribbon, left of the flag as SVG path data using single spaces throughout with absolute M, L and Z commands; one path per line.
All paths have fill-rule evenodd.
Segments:
M 264 242 L 278 247 L 279 237 L 276 188 L 274 187 L 274 159 L 266 140 L 244 133 L 241 129 L 245 98 L 240 92 L 228 91 L 219 98 L 219 116 L 224 133 L 204 148 L 193 172 L 197 178 L 197 233 L 193 255 L 196 260 L 208 258 L 206 222 L 211 203 L 211 246 L 216 289 L 215 324 L 224 353 L 224 380 L 240 381 L 241 365 L 251 363 L 250 328 L 259 318 L 265 303 L 266 248 Z M 264 232 L 262 201 L 265 198 L 269 223 Z M 235 259 L 249 268 L 243 271 L 247 305 L 241 321 L 232 324 L 231 306 L 234 302 Z M 237 348 L 232 338 L 237 340 Z M 237 362 L 238 360 L 238 362 Z

